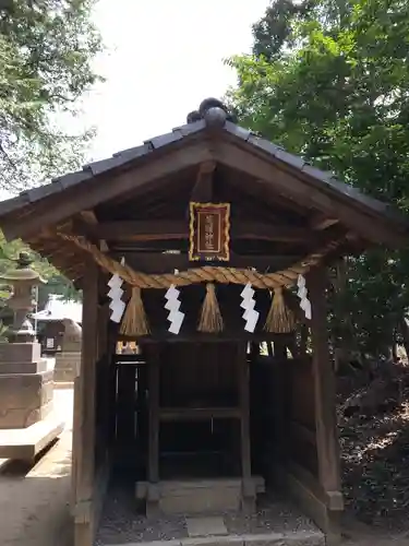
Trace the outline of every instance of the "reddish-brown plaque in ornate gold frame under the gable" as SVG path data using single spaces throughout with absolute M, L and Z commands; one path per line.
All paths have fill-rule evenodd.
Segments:
M 230 260 L 230 203 L 190 203 L 189 259 Z

